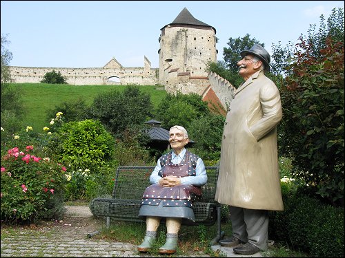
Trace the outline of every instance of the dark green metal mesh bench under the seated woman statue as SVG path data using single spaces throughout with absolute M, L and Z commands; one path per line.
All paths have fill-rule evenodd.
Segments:
M 95 198 L 90 202 L 90 210 L 95 216 L 106 217 L 106 226 L 110 226 L 110 217 L 128 222 L 144 222 L 138 218 L 141 197 L 150 185 L 150 175 L 155 166 L 119 166 L 115 175 L 111 198 Z M 217 236 L 210 244 L 215 244 L 223 237 L 221 232 L 221 205 L 215 201 L 218 180 L 218 166 L 206 166 L 207 183 L 202 186 L 201 202 L 193 202 L 195 222 L 183 222 L 183 225 L 213 226 L 217 222 Z

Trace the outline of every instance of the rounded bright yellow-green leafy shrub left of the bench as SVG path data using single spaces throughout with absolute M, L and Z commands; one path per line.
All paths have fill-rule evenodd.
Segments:
M 52 134 L 49 147 L 72 171 L 99 167 L 112 160 L 115 140 L 97 120 L 67 122 Z

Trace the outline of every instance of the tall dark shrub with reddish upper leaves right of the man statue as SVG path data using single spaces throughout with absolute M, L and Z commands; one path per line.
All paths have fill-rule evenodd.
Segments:
M 326 42 L 322 58 L 300 38 L 293 74 L 282 88 L 284 149 L 293 175 L 335 204 L 344 200 L 344 43 Z

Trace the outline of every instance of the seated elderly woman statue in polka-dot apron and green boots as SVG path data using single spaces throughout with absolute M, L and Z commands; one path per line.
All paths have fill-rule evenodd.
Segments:
M 170 128 L 172 151 L 157 161 L 150 175 L 150 186 L 144 192 L 139 217 L 146 218 L 146 235 L 139 252 L 147 252 L 157 236 L 161 219 L 166 219 L 166 243 L 159 248 L 161 254 L 176 252 L 178 233 L 183 219 L 195 221 L 193 200 L 201 197 L 201 186 L 207 182 L 204 162 L 186 148 L 188 133 L 184 127 Z

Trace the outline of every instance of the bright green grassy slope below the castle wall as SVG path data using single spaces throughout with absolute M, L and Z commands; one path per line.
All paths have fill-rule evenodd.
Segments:
M 126 85 L 64 85 L 46 83 L 12 83 L 11 87 L 21 92 L 23 101 L 25 127 L 31 126 L 33 131 L 41 132 L 43 127 L 48 126 L 50 120 L 46 118 L 48 109 L 65 102 L 83 98 L 86 105 L 91 105 L 94 98 L 103 92 L 110 92 L 114 89 L 124 90 Z M 155 107 L 162 98 L 166 96 L 166 91 L 157 86 L 140 86 L 142 92 L 150 94 L 151 101 Z

